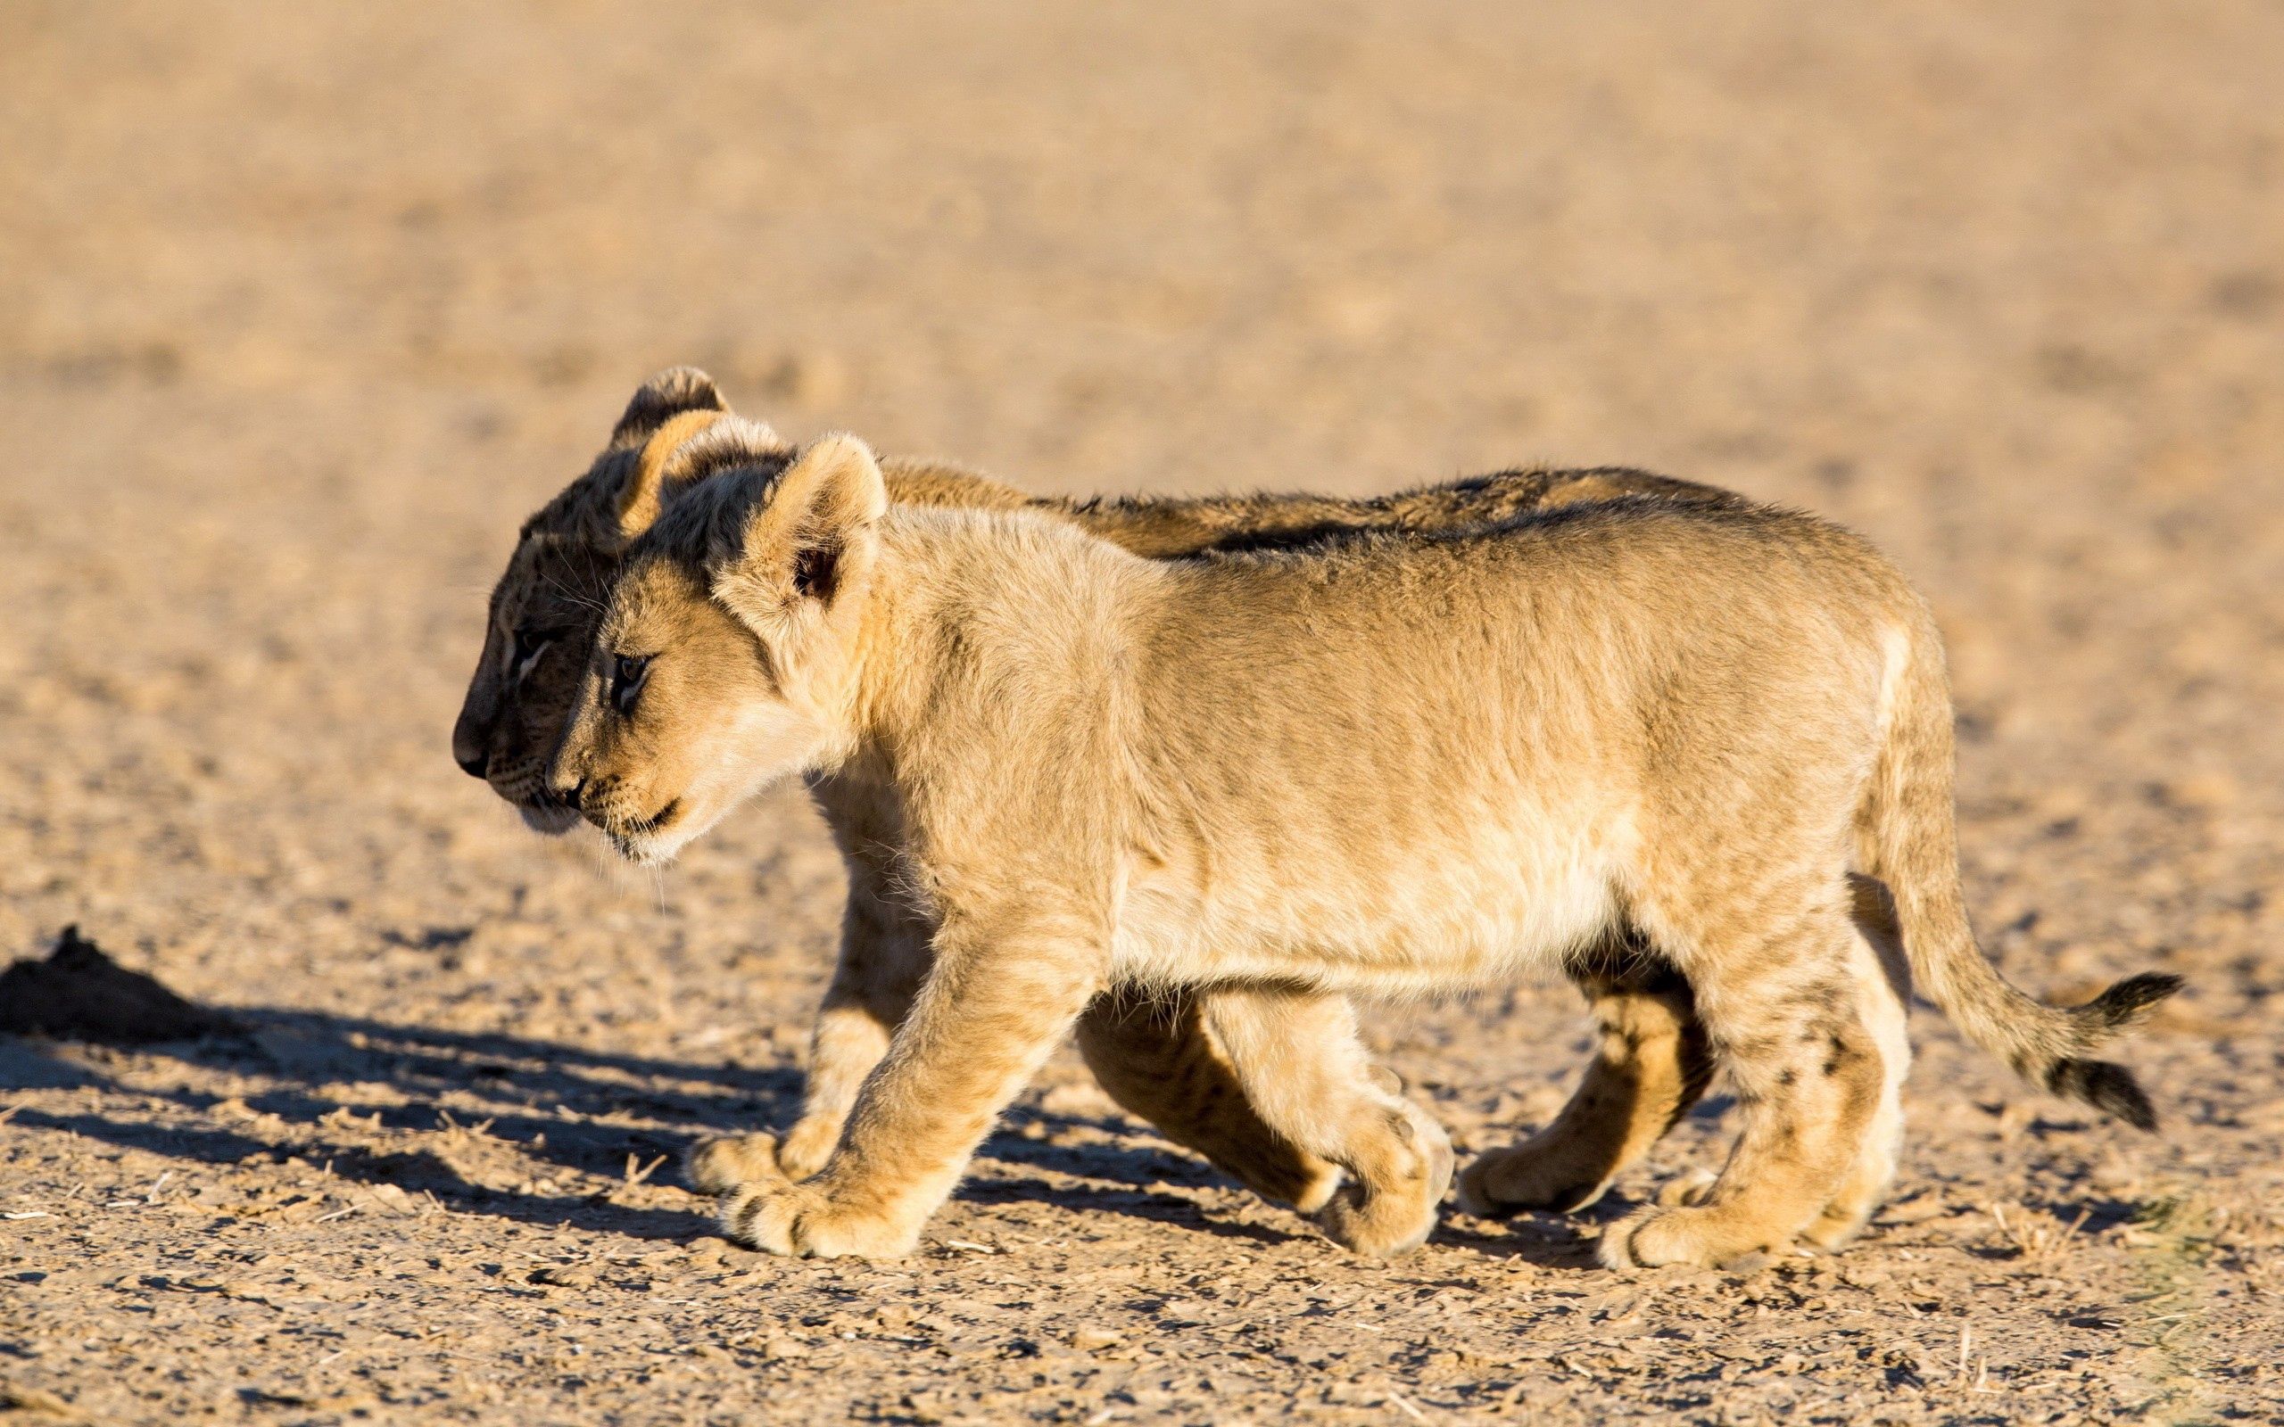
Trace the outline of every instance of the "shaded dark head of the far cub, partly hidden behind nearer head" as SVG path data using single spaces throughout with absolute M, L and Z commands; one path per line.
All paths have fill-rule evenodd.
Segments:
M 694 368 L 646 381 L 587 475 L 525 521 L 491 591 L 484 653 L 452 726 L 452 758 L 537 831 L 578 824 L 578 811 L 548 792 L 548 758 L 578 699 L 619 562 L 658 516 L 662 457 L 724 413 L 722 393 Z

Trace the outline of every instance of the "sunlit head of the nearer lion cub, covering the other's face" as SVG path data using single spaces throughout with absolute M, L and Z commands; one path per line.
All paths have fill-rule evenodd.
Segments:
M 633 861 L 838 756 L 888 493 L 827 436 L 788 461 L 719 418 L 662 459 L 674 491 L 610 589 L 548 790 Z

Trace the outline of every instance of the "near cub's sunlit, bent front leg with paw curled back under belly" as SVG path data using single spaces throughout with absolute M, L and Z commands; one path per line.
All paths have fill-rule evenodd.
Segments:
M 1425 1242 L 1450 1185 L 1450 1137 L 1370 1062 L 1348 1000 L 1263 986 L 1215 986 L 1199 998 L 1261 1119 L 1348 1171 L 1316 1212 L 1318 1226 L 1357 1253 Z

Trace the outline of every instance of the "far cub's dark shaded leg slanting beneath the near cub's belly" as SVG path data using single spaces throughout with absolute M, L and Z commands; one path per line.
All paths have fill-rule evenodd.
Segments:
M 1105 991 L 1078 1018 L 1078 1053 L 1128 1114 L 1263 1199 L 1313 1215 L 1332 1199 L 1341 1169 L 1261 1119 L 1206 1025 L 1208 998 L 1190 989 Z

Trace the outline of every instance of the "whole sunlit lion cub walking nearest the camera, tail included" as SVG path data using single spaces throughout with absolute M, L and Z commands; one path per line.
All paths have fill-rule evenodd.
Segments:
M 628 550 L 548 772 L 646 863 L 790 774 L 898 792 L 927 979 L 825 1169 L 731 1196 L 745 1242 L 909 1251 L 1105 986 L 1217 991 L 1263 1119 L 1418 1187 L 1348 1206 L 1343 1237 L 1414 1235 L 1416 1116 L 1368 1066 L 1281 1048 L 1348 993 L 1498 984 L 1640 934 L 1688 977 L 1745 1123 L 1697 1203 L 1613 1226 L 1603 1260 L 1782 1247 L 1887 1167 L 1850 863 L 1969 1037 L 2152 1123 L 2085 1055 L 2177 982 L 2062 1011 L 1983 959 L 1935 623 L 1839 527 L 1613 502 L 1149 562 L 1028 511 L 891 507 L 852 436 L 790 463 L 747 441 L 726 420 L 687 443 L 706 479 Z

